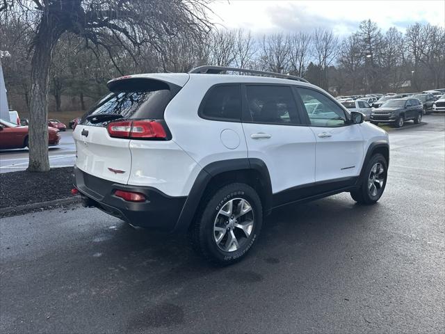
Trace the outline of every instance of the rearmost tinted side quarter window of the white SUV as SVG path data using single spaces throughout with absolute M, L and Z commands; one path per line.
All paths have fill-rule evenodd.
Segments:
M 204 97 L 200 115 L 217 120 L 241 119 L 241 90 L 239 85 L 215 86 Z

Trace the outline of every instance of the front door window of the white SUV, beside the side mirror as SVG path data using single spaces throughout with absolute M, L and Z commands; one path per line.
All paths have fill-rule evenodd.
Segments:
M 343 109 L 329 97 L 308 88 L 298 88 L 311 125 L 316 127 L 341 127 L 347 119 Z

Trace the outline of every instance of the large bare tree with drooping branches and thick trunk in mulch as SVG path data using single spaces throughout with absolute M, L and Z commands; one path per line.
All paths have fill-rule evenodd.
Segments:
M 120 43 L 128 54 L 132 51 L 130 46 L 151 45 L 161 50 L 165 36 L 184 30 L 200 35 L 209 28 L 205 0 L 4 0 L 0 9 L 23 11 L 35 29 L 28 166 L 33 172 L 49 170 L 49 72 L 54 47 L 64 33 L 81 36 L 90 49 L 106 50 L 117 65 L 110 43 Z

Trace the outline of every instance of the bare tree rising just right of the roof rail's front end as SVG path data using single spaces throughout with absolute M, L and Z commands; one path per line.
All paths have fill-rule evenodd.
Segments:
M 332 30 L 318 28 L 314 31 L 313 40 L 314 56 L 321 70 L 320 85 L 322 88 L 327 89 L 329 86 L 327 67 L 329 67 L 337 57 L 339 52 L 339 38 L 334 35 Z

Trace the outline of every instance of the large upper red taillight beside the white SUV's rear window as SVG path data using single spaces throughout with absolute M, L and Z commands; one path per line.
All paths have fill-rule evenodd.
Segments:
M 108 134 L 116 138 L 166 139 L 167 133 L 157 120 L 124 120 L 108 123 Z

